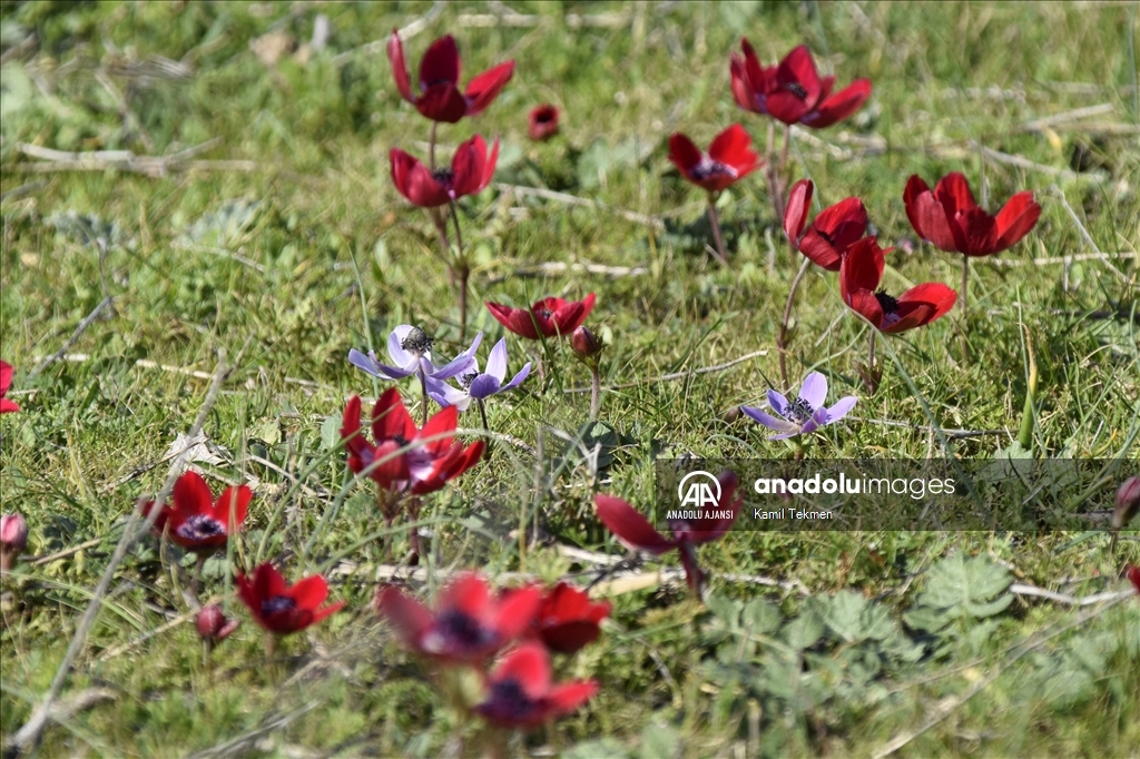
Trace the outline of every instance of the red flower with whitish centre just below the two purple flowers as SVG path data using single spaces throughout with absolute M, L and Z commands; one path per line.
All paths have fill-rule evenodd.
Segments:
M 389 387 L 372 410 L 373 444 L 360 430 L 360 397 L 353 395 L 344 407 L 341 426 L 349 468 L 356 474 L 368 470 L 368 476 L 388 490 L 434 492 L 478 464 L 483 454 L 482 440 L 466 448 L 455 440 L 458 415 L 459 410 L 449 406 L 421 430 L 404 407 L 400 391 Z M 397 452 L 404 448 L 407 450 Z

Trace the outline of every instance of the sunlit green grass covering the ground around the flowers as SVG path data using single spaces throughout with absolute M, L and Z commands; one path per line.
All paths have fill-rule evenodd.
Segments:
M 186 611 L 170 568 L 178 556 L 163 561 L 157 544 L 144 541 L 116 576 L 64 691 L 100 686 L 115 699 L 50 727 L 42 753 L 181 756 L 225 745 L 254 756 L 443 750 L 454 717 L 427 684 L 424 664 L 370 611 L 370 570 L 384 561 L 384 528 L 370 489 L 347 475 L 335 434 L 347 397 L 374 398 L 383 389 L 347 362 L 350 348 L 364 348 L 369 335 L 380 348 L 405 323 L 432 332 L 445 356 L 461 348 L 458 308 L 433 254 L 434 231 L 389 178 L 388 150 L 424 155 L 427 122 L 400 100 L 382 47 L 361 47 L 430 7 L 43 2 L 0 10 L 5 50 L 36 34 L 2 67 L 0 191 L 19 191 L 0 206 L 0 356 L 17 367 L 11 397 L 23 410 L 0 418 L 0 498 L 6 513 L 27 517 L 31 555 L 106 538 L 66 560 L 22 564 L 11 582 L 15 597 L 6 602 L 0 632 L 6 740 L 47 689 L 125 514 L 161 487 L 168 464 L 160 459 L 202 403 L 209 378 L 150 367 L 209 377 L 225 350 L 231 360 L 239 356 L 237 368 L 205 425 L 223 463 L 205 468 L 215 490 L 220 480 L 258 480 L 235 558 L 242 566 L 278 560 L 291 577 L 339 566 L 332 596 L 348 602 L 348 611 L 288 639 L 277 671 L 267 671 L 259 631 L 233 595 L 226 603 L 243 626 L 218 648 L 212 671 L 190 625 L 116 653 Z M 592 497 L 610 492 L 648 507 L 654 457 L 791 456 L 747 418 L 727 419 L 741 403 L 763 405 L 764 391 L 779 383 L 775 334 L 799 261 L 783 244 L 759 172 L 722 198 L 731 266 L 702 255 L 703 197 L 666 157 L 671 132 L 707 145 L 733 121 L 763 147 L 767 121 L 739 111 L 728 88 L 728 54 L 739 50 L 741 35 L 765 62 L 803 41 L 840 84 L 872 77 L 872 98 L 853 119 L 797 137 L 790 174 L 809 177 L 823 205 L 861 196 L 883 244 L 913 237 L 902 191 L 915 172 L 933 182 L 963 171 L 976 188 L 987 183 L 991 209 L 1021 189 L 1035 190 L 1043 206 L 1025 242 L 972 262 L 970 360 L 961 360 L 954 312 L 880 340 L 885 370 L 870 397 L 855 368 L 865 361 L 866 328 L 845 313 L 833 275 L 808 272 L 797 299 L 792 382 L 798 386 L 807 372 L 820 370 L 832 397 L 855 393 L 860 402 L 856 419 L 815 435 L 807 455 L 991 457 L 1009 448 L 1027 389 L 1027 334 L 1039 370 L 1033 452 L 1125 458 L 1137 468 L 1134 6 L 511 8 L 542 23 L 461 25 L 463 14 L 492 9 L 448 5 L 406 43 L 413 71 L 430 40 L 445 33 L 458 40 L 464 80 L 505 58 L 518 64 L 484 114 L 441 128 L 441 155 L 475 131 L 498 134 L 496 182 L 553 188 L 604 207 L 497 189 L 464 199 L 464 238 L 477 264 L 469 319 L 489 346 L 503 329 L 482 301 L 521 305 L 547 294 L 596 292 L 587 324 L 610 343 L 603 383 L 628 386 L 603 395 L 601 418 L 620 444 L 606 449 L 612 460 L 601 471 L 563 455 L 564 443 L 556 442 L 579 433 L 589 406 L 588 393 L 565 392 L 589 382 L 567 345 L 552 344 L 543 356 L 545 389 L 532 376 L 521 392 L 492 399 L 491 429 L 528 446 L 542 436 L 544 457 L 536 464 L 526 449 L 499 443 L 490 462 L 425 499 L 422 516 L 439 568 L 545 579 L 583 571 L 589 566 L 559 556 L 553 542 L 620 552 L 596 523 Z M 629 18 L 570 27 L 563 11 Z M 329 49 L 272 66 L 251 52 L 250 41 L 271 30 L 308 40 L 318 13 L 332 23 Z M 139 64 L 154 56 L 188 56 L 192 73 L 139 75 Z M 98 72 L 124 98 L 125 121 Z M 562 133 L 534 145 L 526 114 L 543 101 L 562 108 Z M 1025 128 L 1090 106 L 1104 107 L 1048 129 Z M 252 162 L 252 170 L 152 178 L 17 166 L 34 161 L 21 142 L 161 155 L 210 139 L 219 144 L 199 157 Z M 983 147 L 1037 168 L 994 158 Z M 1081 156 L 1092 171 L 1074 174 L 1070 161 Z M 614 210 L 661 218 L 665 226 Z M 1086 255 L 1093 247 L 1084 234 L 1107 261 Z M 92 244 L 98 236 L 106 239 L 101 261 Z M 1069 255 L 1076 259 L 1064 263 Z M 534 274 L 546 262 L 644 271 Z M 891 292 L 927 280 L 958 287 L 956 256 L 926 245 L 891 254 L 888 264 L 883 281 Z M 113 310 L 68 351 L 85 358 L 31 376 L 105 295 L 114 296 Z M 536 358 L 543 350 L 513 336 L 508 345 L 512 370 L 526 350 Z M 654 379 L 765 349 L 724 370 Z M 417 387 L 401 387 L 418 418 Z M 477 418 L 472 413 L 461 424 L 477 427 Z M 943 450 L 927 431 L 933 423 L 1008 433 L 955 440 Z M 539 492 L 536 466 L 549 475 Z M 1110 490 L 1099 503 L 1110 503 Z M 536 519 L 549 541 L 520 555 L 512 531 Z M 402 531 L 392 539 L 405 545 Z M 555 729 L 516 738 L 511 751 L 870 756 L 1000 672 L 902 754 L 1130 756 L 1140 744 L 1135 599 L 1077 611 L 1019 596 L 1000 612 L 966 614 L 937 631 L 921 634 L 911 622 L 934 576 L 962 555 L 984 558 L 969 570 L 978 574 L 968 576 L 979 582 L 988 577 L 1083 596 L 1124 587 L 1117 574 L 1127 561 L 1140 563 L 1138 545 L 1122 540 L 1110 555 L 1099 532 L 734 532 L 701 552 L 714 572 L 707 609 L 676 586 L 616 595 L 600 642 L 562 668 L 564 677 L 597 678 L 600 694 Z M 348 571 L 349 561 L 359 571 Z M 718 577 L 725 573 L 793 581 L 806 593 Z M 206 595 L 227 593 L 226 574 L 221 563 L 207 565 Z M 895 632 L 848 630 L 845 637 L 834 620 L 858 617 L 850 611 L 855 599 L 870 610 L 858 613 L 885 615 Z M 734 602 L 752 605 L 742 611 Z M 834 625 L 819 621 L 826 619 Z M 812 620 L 817 640 L 804 632 Z M 1025 642 L 1041 645 L 1026 653 Z M 912 655 L 914 645 L 920 656 Z

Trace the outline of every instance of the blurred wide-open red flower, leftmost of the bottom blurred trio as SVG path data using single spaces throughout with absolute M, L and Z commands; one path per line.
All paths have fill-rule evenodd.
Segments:
M 415 651 L 447 661 L 477 662 L 530 627 L 540 601 L 537 587 L 491 597 L 482 578 L 466 573 L 440 590 L 434 613 L 392 586 L 376 595 L 376 611 Z

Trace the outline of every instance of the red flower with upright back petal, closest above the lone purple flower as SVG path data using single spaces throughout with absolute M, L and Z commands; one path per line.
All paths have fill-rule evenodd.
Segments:
M 864 237 L 847 248 L 839 267 L 839 294 L 848 308 L 885 333 L 926 326 L 954 308 L 958 293 L 937 281 L 911 287 L 897 300 L 876 292 L 882 280 L 883 256 L 891 250 L 880 248 L 874 237 Z

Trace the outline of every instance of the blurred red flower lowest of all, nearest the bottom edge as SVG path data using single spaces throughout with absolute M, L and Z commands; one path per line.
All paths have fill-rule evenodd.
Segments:
M 569 715 L 597 693 L 594 680 L 551 683 L 551 659 L 537 643 L 524 643 L 495 668 L 490 695 L 475 711 L 499 727 L 529 729 Z

